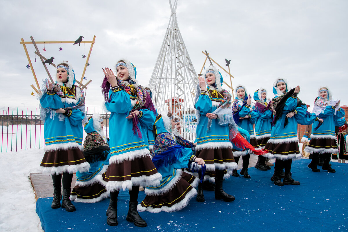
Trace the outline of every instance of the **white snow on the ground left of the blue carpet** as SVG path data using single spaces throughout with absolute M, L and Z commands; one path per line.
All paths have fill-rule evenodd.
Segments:
M 42 232 L 29 174 L 43 156 L 43 149 L 0 153 L 0 231 Z

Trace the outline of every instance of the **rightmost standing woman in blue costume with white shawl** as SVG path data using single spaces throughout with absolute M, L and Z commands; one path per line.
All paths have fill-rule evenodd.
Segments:
M 340 101 L 332 99 L 329 88 L 322 87 L 318 90 L 318 97 L 315 99 L 313 113 L 324 120 L 324 123 L 318 125 L 314 122 L 312 126 L 312 135 L 305 151 L 312 154 L 312 161 L 308 167 L 312 171 L 319 172 L 317 162 L 319 154 L 323 155 L 324 164 L 322 169 L 329 173 L 336 172 L 330 167 L 330 158 L 332 153 L 337 153 L 337 144 L 335 137 L 335 126 L 343 126 L 347 121 L 345 111 L 339 107 Z

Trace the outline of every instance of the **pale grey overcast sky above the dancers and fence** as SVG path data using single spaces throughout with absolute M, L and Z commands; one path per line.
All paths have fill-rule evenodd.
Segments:
M 172 0 L 172 2 L 174 2 Z M 264 87 L 271 93 L 277 77 L 300 85 L 300 99 L 313 105 L 319 86 L 327 85 L 341 105 L 348 105 L 348 1 L 206 1 L 179 0 L 176 16 L 188 53 L 199 72 L 207 50 L 221 65 L 231 59 L 233 86 L 248 93 Z M 126 57 L 137 68 L 137 79 L 148 85 L 171 10 L 166 0 L 127 1 L 0 1 L 0 110 L 38 106 L 35 85 L 21 38 L 30 41 L 90 41 L 96 35 L 86 78 L 88 109 L 101 110 L 102 67 Z M 39 44 L 54 63 L 69 61 L 80 80 L 90 44 Z M 35 73 L 47 78 L 34 46 L 27 45 Z M 51 74 L 55 69 L 49 68 Z M 226 87 L 226 86 L 225 86 Z M 35 94 L 36 95 L 36 94 Z

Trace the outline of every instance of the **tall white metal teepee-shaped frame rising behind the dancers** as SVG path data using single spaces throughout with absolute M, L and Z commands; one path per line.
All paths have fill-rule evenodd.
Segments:
M 169 5 L 172 14 L 153 69 L 149 86 L 157 111 L 168 110 L 184 122 L 183 133 L 187 139 L 195 138 L 196 122 L 194 101 L 198 77 L 182 39 L 176 21 L 177 0 Z

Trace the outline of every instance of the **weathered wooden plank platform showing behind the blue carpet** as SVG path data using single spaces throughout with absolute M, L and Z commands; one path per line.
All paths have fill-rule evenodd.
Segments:
M 250 156 L 249 168 L 253 168 L 258 160 L 256 155 Z M 275 162 L 275 159 L 270 160 L 271 163 Z M 239 159 L 238 170 L 242 169 L 243 160 Z M 42 174 L 42 173 L 31 173 L 29 175 L 31 185 L 33 186 L 33 191 L 35 193 L 35 199 L 41 197 L 52 197 L 53 195 L 53 182 L 51 175 Z M 71 189 L 75 186 L 76 175 L 74 174 L 71 182 Z

